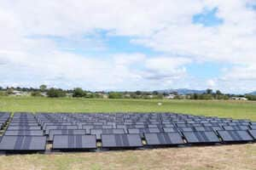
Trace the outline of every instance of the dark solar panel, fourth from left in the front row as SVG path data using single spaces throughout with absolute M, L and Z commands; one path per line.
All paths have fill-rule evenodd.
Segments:
M 145 133 L 148 146 L 184 144 L 179 133 Z

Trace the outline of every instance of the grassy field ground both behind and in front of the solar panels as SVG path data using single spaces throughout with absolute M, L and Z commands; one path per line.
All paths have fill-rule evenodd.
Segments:
M 161 103 L 161 105 L 158 105 Z M 0 111 L 177 112 L 256 121 L 256 102 L 0 97 Z M 0 156 L 0 169 L 256 169 L 256 144 Z

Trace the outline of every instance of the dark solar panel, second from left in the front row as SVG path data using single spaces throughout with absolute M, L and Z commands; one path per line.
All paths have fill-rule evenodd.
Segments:
M 54 150 L 95 150 L 95 135 L 54 135 Z

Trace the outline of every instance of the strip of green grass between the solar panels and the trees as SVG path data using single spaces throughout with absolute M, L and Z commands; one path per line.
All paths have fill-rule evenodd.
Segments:
M 158 103 L 162 105 L 158 105 Z M 49 99 L 1 97 L 0 111 L 148 112 L 169 111 L 256 121 L 256 102 L 157 99 Z

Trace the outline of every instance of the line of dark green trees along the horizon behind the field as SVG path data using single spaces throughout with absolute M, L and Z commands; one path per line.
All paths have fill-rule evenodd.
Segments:
M 48 88 L 46 85 L 41 85 L 39 88 L 1 88 L 0 96 L 13 95 L 17 92 L 31 95 L 34 97 L 45 96 L 49 98 L 61 98 L 61 97 L 73 97 L 73 98 L 108 98 L 108 99 L 230 99 L 230 98 L 246 98 L 249 100 L 256 100 L 256 95 L 245 94 L 245 95 L 235 95 L 235 94 L 223 94 L 220 90 L 213 91 L 212 89 L 205 90 L 205 93 L 201 94 L 177 94 L 177 92 L 172 93 L 160 93 L 158 91 L 152 92 L 91 92 L 86 91 L 83 88 L 73 88 L 73 89 L 61 89 L 61 88 Z

